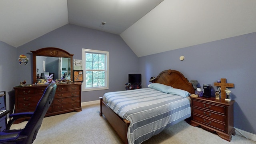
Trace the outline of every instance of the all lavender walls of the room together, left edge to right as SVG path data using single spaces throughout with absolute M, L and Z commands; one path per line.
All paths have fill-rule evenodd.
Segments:
M 98 100 L 105 92 L 124 90 L 128 73 L 142 73 L 142 87 L 145 88 L 151 76 L 162 70 L 173 69 L 184 74 L 188 80 L 198 80 L 199 84 L 212 84 L 220 78 L 234 83 L 230 97 L 234 104 L 234 126 L 256 134 L 254 120 L 256 111 L 254 98 L 256 81 L 256 33 L 236 36 L 224 40 L 208 42 L 188 48 L 181 48 L 138 58 L 116 34 L 67 24 L 48 34 L 36 38 L 23 46 L 14 48 L 0 41 L 0 90 L 8 92 L 8 105 L 13 106 L 12 87 L 26 80 L 32 83 L 32 53 L 44 47 L 62 48 L 74 59 L 82 59 L 82 48 L 109 51 L 110 87 L 109 90 L 82 92 L 82 102 Z M 20 66 L 18 56 L 25 54 L 28 64 Z M 183 61 L 179 60 L 185 56 Z M 213 91 L 216 87 L 212 87 Z

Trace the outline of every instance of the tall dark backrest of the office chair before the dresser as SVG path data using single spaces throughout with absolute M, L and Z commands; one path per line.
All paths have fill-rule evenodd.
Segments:
M 54 99 L 56 87 L 56 84 L 50 84 L 46 87 L 44 94 L 36 106 L 34 114 L 26 124 L 25 128 L 20 132 L 20 135 L 28 136 L 25 144 L 31 144 L 36 139 L 36 135 L 41 127 L 43 118 Z

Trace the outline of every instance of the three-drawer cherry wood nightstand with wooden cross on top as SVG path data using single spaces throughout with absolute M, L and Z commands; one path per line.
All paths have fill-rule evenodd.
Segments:
M 234 129 L 234 100 L 216 98 L 190 97 L 192 126 L 201 126 L 211 132 L 216 132 L 221 138 L 231 141 Z

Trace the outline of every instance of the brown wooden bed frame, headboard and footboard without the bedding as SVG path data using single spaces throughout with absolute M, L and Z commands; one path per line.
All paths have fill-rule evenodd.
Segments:
M 173 88 L 179 88 L 190 92 L 190 94 L 195 93 L 193 85 L 188 82 L 188 79 L 184 75 L 176 70 L 164 70 L 156 77 L 152 83 L 165 84 L 167 86 L 172 86 Z M 128 144 L 127 132 L 130 121 L 125 120 L 113 112 L 100 97 L 100 116 L 106 117 L 112 128 L 116 131 L 118 136 L 124 142 Z

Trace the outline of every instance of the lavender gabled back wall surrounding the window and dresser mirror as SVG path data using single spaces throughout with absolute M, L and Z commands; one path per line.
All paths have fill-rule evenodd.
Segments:
M 90 28 L 67 24 L 48 34 L 36 38 L 18 47 L 17 56 L 25 54 L 30 62 L 26 67 L 18 67 L 16 83 L 26 79 L 32 83 L 32 53 L 45 47 L 56 47 L 74 54 L 74 59 L 82 59 L 82 48 L 104 50 L 109 52 L 109 89 L 82 92 L 82 102 L 99 100 L 100 96 L 110 91 L 125 90 L 128 73 L 138 72 L 138 57 L 132 52 L 119 35 L 110 34 Z

